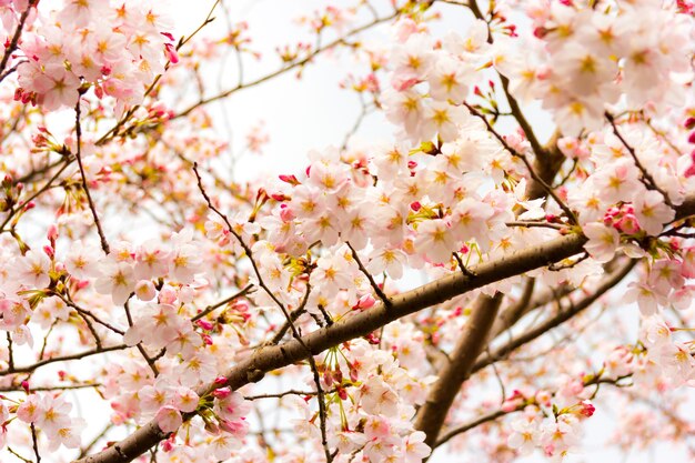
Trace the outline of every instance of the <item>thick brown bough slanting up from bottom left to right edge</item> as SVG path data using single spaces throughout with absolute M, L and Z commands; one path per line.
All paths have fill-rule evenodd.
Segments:
M 695 195 L 688 197 L 676 210 L 676 220 L 695 214 Z M 270 372 L 291 365 L 311 355 L 339 345 L 351 339 L 363 336 L 372 331 L 391 323 L 411 313 L 439 304 L 454 296 L 464 294 L 486 284 L 518 275 L 554 262 L 562 261 L 582 252 L 586 238 L 582 234 L 571 234 L 555 240 L 520 250 L 513 254 L 492 262 L 480 264 L 473 269 L 476 276 L 471 278 L 462 273 L 444 276 L 424 284 L 412 291 L 391 298 L 391 306 L 383 303 L 372 309 L 345 318 L 331 326 L 316 330 L 304 336 L 303 342 L 291 340 L 281 345 L 271 345 L 259 349 L 253 355 L 239 362 L 225 373 L 228 384 L 239 389 L 264 372 Z M 306 348 L 309 348 L 306 350 Z M 474 366 L 476 369 L 479 364 Z M 210 384 L 200 392 L 208 393 L 221 385 Z M 127 463 L 148 451 L 168 436 L 155 421 L 151 421 L 122 441 L 104 449 L 100 453 L 74 463 Z

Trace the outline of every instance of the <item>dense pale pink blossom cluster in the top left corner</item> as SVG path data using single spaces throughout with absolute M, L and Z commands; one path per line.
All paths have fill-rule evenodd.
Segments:
M 18 14 L 36 2 L 21 3 L 13 6 Z M 72 108 L 92 87 L 121 111 L 138 104 L 164 64 L 178 61 L 170 28 L 155 2 L 69 0 L 60 10 L 38 10 L 19 47 L 16 99 L 48 111 Z

